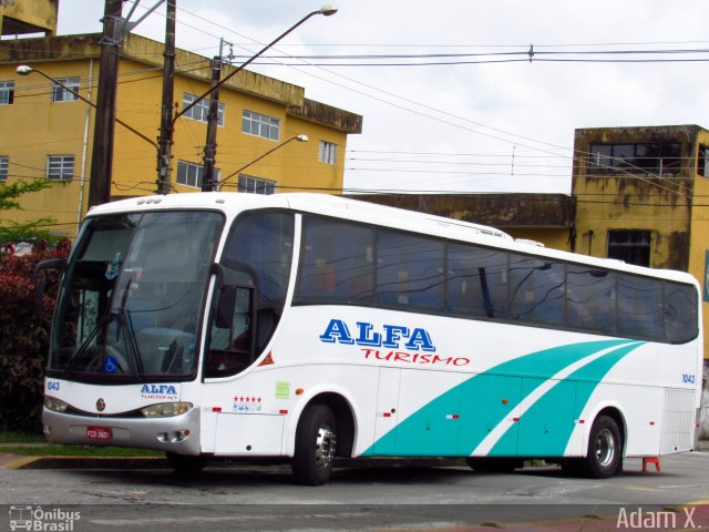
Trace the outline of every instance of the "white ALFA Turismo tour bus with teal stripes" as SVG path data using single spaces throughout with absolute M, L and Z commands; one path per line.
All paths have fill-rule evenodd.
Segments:
M 42 264 L 39 269 L 56 267 Z M 288 457 L 540 458 L 595 478 L 693 446 L 697 282 L 318 194 L 93 208 L 53 317 L 56 443 Z

